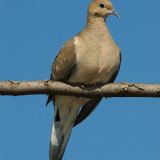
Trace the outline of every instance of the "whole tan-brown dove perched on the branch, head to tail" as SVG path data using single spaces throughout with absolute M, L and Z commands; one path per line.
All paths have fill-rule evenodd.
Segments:
M 109 0 L 93 0 L 83 31 L 60 49 L 52 66 L 51 80 L 83 85 L 106 84 L 115 80 L 120 68 L 120 49 L 112 39 L 106 19 L 115 12 Z M 54 122 L 50 160 L 62 160 L 72 128 L 83 121 L 101 98 L 49 95 L 54 101 Z

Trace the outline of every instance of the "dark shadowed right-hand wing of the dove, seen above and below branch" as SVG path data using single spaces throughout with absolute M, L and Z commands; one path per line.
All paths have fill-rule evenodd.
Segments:
M 117 74 L 120 70 L 121 59 L 122 59 L 121 51 L 120 51 L 119 55 L 120 55 L 119 56 L 119 60 L 120 60 L 119 67 L 117 70 L 115 70 L 112 77 L 110 78 L 110 80 L 107 83 L 113 83 L 117 77 Z M 75 120 L 74 126 L 77 126 L 79 123 L 81 123 L 83 120 L 85 120 L 93 112 L 93 110 L 96 108 L 96 106 L 100 103 L 101 99 L 102 98 L 91 99 L 84 106 L 82 106 L 82 109 L 80 110 L 80 112 Z

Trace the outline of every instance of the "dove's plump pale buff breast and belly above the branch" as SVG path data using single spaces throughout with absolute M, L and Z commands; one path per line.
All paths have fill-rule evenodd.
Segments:
M 119 67 L 119 51 L 111 42 L 85 43 L 75 38 L 76 70 L 73 83 L 106 83 Z

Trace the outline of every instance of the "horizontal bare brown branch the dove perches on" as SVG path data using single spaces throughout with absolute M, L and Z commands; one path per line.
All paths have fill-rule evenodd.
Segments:
M 103 86 L 82 86 L 53 81 L 0 82 L 0 95 L 21 96 L 35 94 L 76 97 L 157 97 L 160 84 L 112 83 Z

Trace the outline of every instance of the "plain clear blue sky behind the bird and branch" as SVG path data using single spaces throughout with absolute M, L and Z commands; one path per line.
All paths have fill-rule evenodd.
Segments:
M 62 44 L 81 31 L 90 0 L 0 0 L 0 80 L 43 80 Z M 122 50 L 117 82 L 160 83 L 160 1 L 112 1 Z M 46 96 L 0 97 L 0 160 L 48 160 Z M 160 99 L 112 98 L 76 127 L 64 160 L 159 160 Z

